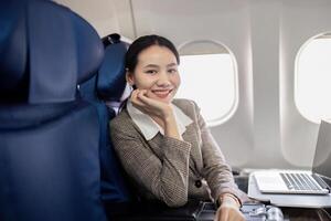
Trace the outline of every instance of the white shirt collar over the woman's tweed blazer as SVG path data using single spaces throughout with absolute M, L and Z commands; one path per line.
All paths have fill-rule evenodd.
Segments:
M 188 115 L 185 115 L 179 107 L 177 107 L 173 104 L 171 105 L 174 113 L 179 133 L 180 135 L 183 135 L 184 131 L 186 131 L 186 126 L 192 124 L 193 120 Z M 139 129 L 141 130 L 142 135 L 147 140 L 152 139 L 158 133 L 161 133 L 164 136 L 163 128 L 160 127 L 149 115 L 142 113 L 137 107 L 135 107 L 130 101 L 128 101 L 127 103 L 127 109 L 130 117 L 139 127 Z

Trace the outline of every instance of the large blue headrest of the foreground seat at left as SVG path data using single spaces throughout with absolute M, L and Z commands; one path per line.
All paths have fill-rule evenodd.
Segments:
M 0 27 L 0 103 L 74 101 L 104 56 L 94 28 L 52 1 L 1 1 Z

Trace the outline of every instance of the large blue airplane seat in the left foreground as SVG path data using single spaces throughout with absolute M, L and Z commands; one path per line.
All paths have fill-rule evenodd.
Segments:
M 0 2 L 0 220 L 107 220 L 99 119 L 77 96 L 104 48 L 52 1 Z

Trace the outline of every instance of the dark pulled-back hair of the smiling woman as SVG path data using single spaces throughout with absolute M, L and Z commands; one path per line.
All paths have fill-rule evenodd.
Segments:
M 166 39 L 164 36 L 156 35 L 156 34 L 143 35 L 143 36 L 140 36 L 137 40 L 135 40 L 126 53 L 126 65 L 125 66 L 126 66 L 127 72 L 135 73 L 136 66 L 138 64 L 139 54 L 143 50 L 146 50 L 152 45 L 166 46 L 167 49 L 169 49 L 175 56 L 177 63 L 180 64 L 179 53 L 170 40 Z M 135 85 L 132 85 L 132 87 L 135 90 Z M 122 108 L 126 107 L 127 101 L 128 101 L 128 98 L 122 102 L 119 110 L 121 110 Z

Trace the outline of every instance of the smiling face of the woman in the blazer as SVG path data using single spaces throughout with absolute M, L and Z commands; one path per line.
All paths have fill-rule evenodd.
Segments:
M 178 63 L 167 46 L 152 45 L 141 51 L 134 73 L 127 81 L 138 90 L 147 90 L 147 96 L 170 103 L 180 86 Z

